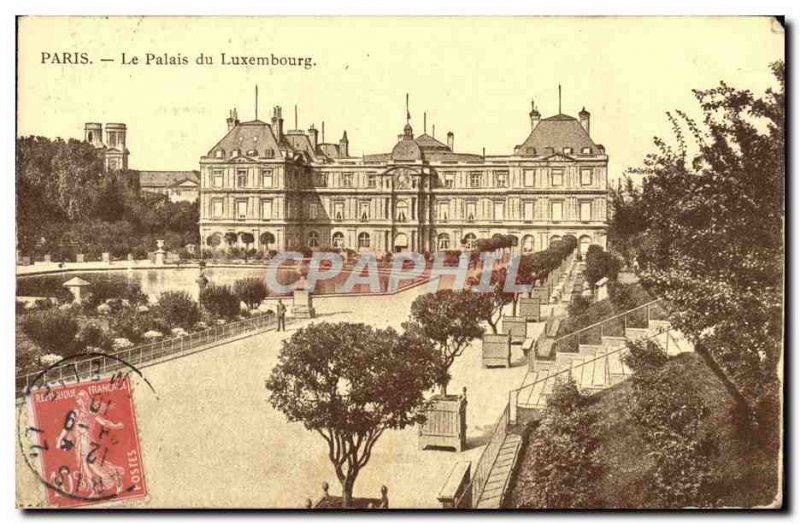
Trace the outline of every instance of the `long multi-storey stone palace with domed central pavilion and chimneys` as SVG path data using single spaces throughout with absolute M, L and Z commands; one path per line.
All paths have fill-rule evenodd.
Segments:
M 590 114 L 541 118 L 507 155 L 457 152 L 414 135 L 406 120 L 390 151 L 353 157 L 345 131 L 324 142 L 311 126 L 284 130 L 240 122 L 200 158 L 204 246 L 261 250 L 340 248 L 433 252 L 474 249 L 512 235 L 518 252 L 573 235 L 585 251 L 606 245 L 608 156 L 590 135 Z

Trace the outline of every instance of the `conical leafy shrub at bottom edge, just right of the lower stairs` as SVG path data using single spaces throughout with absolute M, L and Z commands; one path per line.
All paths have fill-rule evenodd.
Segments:
M 530 436 L 520 468 L 519 507 L 576 509 L 593 507 L 602 467 L 596 452 L 600 439 L 589 398 L 569 378 L 553 388 L 541 423 Z

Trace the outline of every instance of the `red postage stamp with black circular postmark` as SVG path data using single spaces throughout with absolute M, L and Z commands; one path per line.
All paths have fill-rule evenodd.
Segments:
M 74 507 L 147 495 L 127 376 L 38 390 L 29 402 L 48 504 Z

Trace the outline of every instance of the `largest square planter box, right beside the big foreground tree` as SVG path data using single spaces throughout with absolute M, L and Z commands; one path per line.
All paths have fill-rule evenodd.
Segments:
M 463 395 L 435 395 L 419 426 L 419 449 L 428 446 L 464 451 L 467 447 L 467 388 Z

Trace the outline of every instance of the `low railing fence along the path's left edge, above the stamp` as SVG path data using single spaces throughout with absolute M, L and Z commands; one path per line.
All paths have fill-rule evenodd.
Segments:
M 236 337 L 248 331 L 267 329 L 276 324 L 274 315 L 256 317 L 215 326 L 182 337 L 172 337 L 141 346 L 119 349 L 108 355 L 87 355 L 86 358 L 57 364 L 46 371 L 28 373 L 17 377 L 16 393 L 22 396 L 34 387 L 43 387 L 47 382 L 63 383 L 100 376 L 119 371 L 130 364 L 141 366 L 165 358 L 177 358 L 195 352 L 198 348 L 220 340 Z

